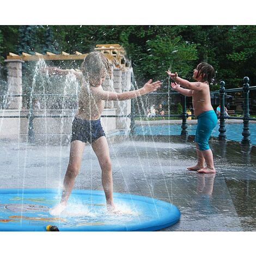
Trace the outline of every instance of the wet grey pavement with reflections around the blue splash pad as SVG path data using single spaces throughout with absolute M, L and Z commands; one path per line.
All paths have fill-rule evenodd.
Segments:
M 216 174 L 198 174 L 192 139 L 187 143 L 137 137 L 110 143 L 114 191 L 154 197 L 178 206 L 180 222 L 163 231 L 256 231 L 256 147 L 211 141 Z M 59 187 L 69 146 L 2 143 L 0 188 Z M 99 163 L 84 151 L 75 188 L 102 190 Z

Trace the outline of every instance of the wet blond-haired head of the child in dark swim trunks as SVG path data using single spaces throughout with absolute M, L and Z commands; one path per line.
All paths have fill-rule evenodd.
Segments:
M 101 52 L 90 52 L 83 60 L 81 71 L 91 86 L 100 84 L 102 77 L 112 75 L 108 59 Z

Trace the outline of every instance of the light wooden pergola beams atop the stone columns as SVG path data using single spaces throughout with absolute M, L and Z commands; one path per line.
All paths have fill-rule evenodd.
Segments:
M 103 45 L 96 45 L 94 48 L 95 51 L 102 52 L 117 68 L 124 69 L 126 66 L 126 59 L 125 59 L 125 50 L 119 44 L 103 44 Z M 54 54 L 52 52 L 46 52 L 46 54 L 41 54 L 35 52 L 34 55 L 28 54 L 26 52 L 22 52 L 21 55 L 17 55 L 15 53 L 9 53 L 7 59 L 10 60 L 23 60 L 23 61 L 38 61 L 40 59 L 44 60 L 81 60 L 84 59 L 88 53 L 81 53 L 75 52 L 75 54 L 69 54 L 66 52 L 62 52 L 61 54 Z

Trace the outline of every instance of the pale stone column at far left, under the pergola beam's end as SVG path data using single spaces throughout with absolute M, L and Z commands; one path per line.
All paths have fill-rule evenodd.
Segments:
M 17 109 L 22 108 L 22 96 L 12 96 L 22 94 L 22 63 L 23 60 L 20 59 L 5 59 L 8 69 L 8 106 L 7 109 Z

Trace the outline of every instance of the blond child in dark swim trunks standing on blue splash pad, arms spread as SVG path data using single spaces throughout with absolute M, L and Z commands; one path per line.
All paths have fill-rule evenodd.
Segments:
M 108 92 L 103 90 L 102 83 L 106 76 L 111 75 L 108 59 L 101 52 L 91 52 L 84 59 L 81 72 L 75 70 L 61 70 L 48 68 L 50 73 L 74 74 L 82 81 L 78 97 L 78 112 L 72 122 L 72 138 L 70 145 L 69 164 L 66 170 L 62 199 L 50 210 L 51 215 L 59 215 L 66 207 L 72 188 L 81 167 L 82 155 L 86 143 L 92 144 L 94 153 L 102 171 L 102 186 L 106 196 L 107 210 L 117 213 L 113 200 L 113 180 L 111 159 L 105 132 L 101 126 L 101 113 L 105 100 L 129 100 L 133 97 L 154 92 L 161 86 L 160 81 L 149 80 L 143 88 L 124 93 Z

